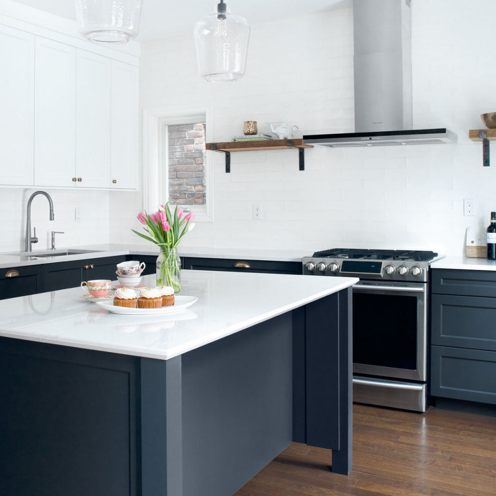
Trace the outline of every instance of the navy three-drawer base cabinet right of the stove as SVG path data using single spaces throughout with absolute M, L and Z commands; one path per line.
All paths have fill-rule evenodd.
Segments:
M 496 404 L 496 272 L 432 270 L 431 395 Z

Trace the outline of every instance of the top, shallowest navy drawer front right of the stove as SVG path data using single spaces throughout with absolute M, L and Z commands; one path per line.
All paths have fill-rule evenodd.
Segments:
M 432 293 L 496 298 L 496 271 L 432 269 Z

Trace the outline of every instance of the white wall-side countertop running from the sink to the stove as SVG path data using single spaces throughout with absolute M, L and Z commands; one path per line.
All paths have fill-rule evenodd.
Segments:
M 63 251 L 67 248 L 58 248 L 56 251 Z M 87 250 L 86 253 L 73 255 L 36 257 L 24 256 L 14 252 L 0 253 L 0 268 L 22 267 L 26 265 L 40 265 L 43 263 L 64 262 L 69 260 L 84 260 L 88 258 L 101 258 L 105 256 L 128 255 L 156 255 L 159 250 L 155 245 L 87 245 L 70 247 L 70 249 Z M 33 250 L 33 254 L 38 252 L 49 252 L 50 250 Z M 206 257 L 206 258 L 237 258 L 241 260 L 277 260 L 282 262 L 301 262 L 302 258 L 309 253 L 300 250 L 283 249 L 261 249 L 261 248 L 182 248 L 178 252 L 181 256 Z M 311 253 L 310 253 L 311 254 Z

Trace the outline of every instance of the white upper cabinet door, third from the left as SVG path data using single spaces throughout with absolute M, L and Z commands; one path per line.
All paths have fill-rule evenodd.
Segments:
M 111 60 L 76 50 L 76 186 L 110 185 Z

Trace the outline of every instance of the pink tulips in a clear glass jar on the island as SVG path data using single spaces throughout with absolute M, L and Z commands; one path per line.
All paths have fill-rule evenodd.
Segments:
M 193 218 L 192 213 L 184 215 L 183 209 L 177 205 L 172 215 L 169 202 L 159 205 L 158 211 L 153 214 L 140 212 L 137 215 L 147 234 L 138 233 L 134 229 L 132 232 L 160 248 L 157 258 L 157 286 L 171 286 L 176 293 L 181 289 L 181 258 L 177 246 L 184 235 L 193 229 Z

